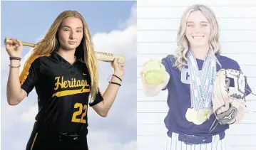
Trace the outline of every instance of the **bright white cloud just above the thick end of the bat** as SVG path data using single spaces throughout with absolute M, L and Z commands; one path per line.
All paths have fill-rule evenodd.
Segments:
M 96 51 L 125 55 L 126 59 L 136 56 L 136 7 L 131 9 L 130 18 L 121 26 L 124 29 L 109 33 L 96 33 L 93 36 L 93 44 Z

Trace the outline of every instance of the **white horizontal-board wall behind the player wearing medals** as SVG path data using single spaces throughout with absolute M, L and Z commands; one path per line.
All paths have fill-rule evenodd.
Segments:
M 141 90 L 140 70 L 149 58 L 164 58 L 175 50 L 180 17 L 191 4 L 206 4 L 220 24 L 222 55 L 240 64 L 256 93 L 256 1 L 255 0 L 138 0 L 137 9 L 137 141 L 138 150 L 163 150 L 167 130 L 168 92 L 145 97 Z M 230 150 L 256 149 L 256 97 L 247 97 L 242 122 L 227 130 Z

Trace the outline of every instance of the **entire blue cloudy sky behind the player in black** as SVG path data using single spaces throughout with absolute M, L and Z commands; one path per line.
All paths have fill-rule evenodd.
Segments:
M 25 149 L 38 111 L 36 92 L 31 92 L 19 105 L 9 106 L 6 102 L 9 55 L 3 45 L 4 38 L 36 43 L 65 10 L 76 10 L 83 15 L 96 50 L 126 56 L 122 86 L 108 117 L 101 118 L 88 109 L 90 150 L 135 149 L 135 4 L 135 1 L 1 1 L 1 149 Z M 24 47 L 23 61 L 30 50 Z M 101 91 L 104 92 L 113 70 L 109 63 L 98 63 Z

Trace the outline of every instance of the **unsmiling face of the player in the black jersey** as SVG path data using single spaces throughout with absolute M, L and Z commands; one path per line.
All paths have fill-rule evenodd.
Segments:
M 83 23 L 79 18 L 65 18 L 58 30 L 58 41 L 63 50 L 75 50 L 83 39 Z

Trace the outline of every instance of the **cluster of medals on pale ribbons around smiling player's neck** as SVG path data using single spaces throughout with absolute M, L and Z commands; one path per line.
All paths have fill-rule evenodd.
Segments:
M 213 98 L 213 82 L 216 74 L 216 60 L 213 50 L 209 50 L 208 56 L 199 73 L 197 60 L 191 50 L 188 51 L 188 70 L 190 73 L 191 107 L 186 118 L 194 124 L 203 124 L 210 118 L 211 100 Z

